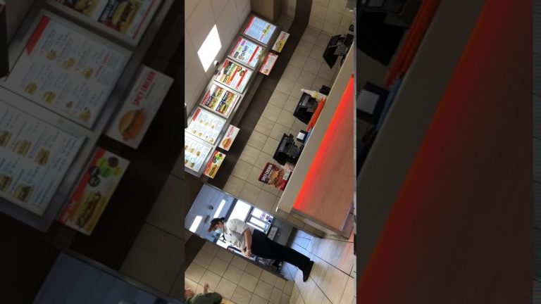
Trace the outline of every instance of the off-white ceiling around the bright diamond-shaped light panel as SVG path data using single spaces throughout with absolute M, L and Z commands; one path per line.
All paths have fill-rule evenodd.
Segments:
M 250 0 L 185 1 L 185 103 L 188 113 L 197 104 L 216 68 L 205 72 L 197 50 L 216 24 L 222 48 L 216 56 L 221 61 L 242 23 L 250 13 Z

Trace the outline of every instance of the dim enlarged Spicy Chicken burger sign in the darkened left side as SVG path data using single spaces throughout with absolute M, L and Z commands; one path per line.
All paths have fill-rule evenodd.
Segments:
M 107 136 L 137 148 L 171 84 L 173 78 L 144 66 L 122 109 L 109 126 Z

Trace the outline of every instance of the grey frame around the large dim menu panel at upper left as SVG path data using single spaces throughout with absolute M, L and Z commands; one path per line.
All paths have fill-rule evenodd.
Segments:
M 112 85 L 107 88 L 107 97 L 102 101 L 101 105 L 97 108 L 98 113 L 94 113 L 94 118 L 90 120 L 88 123 L 82 122 L 81 120 L 75 119 L 73 116 L 68 115 L 67 113 L 63 113 L 61 110 L 58 110 L 57 108 L 54 108 L 52 106 L 47 106 L 44 104 L 44 102 L 39 102 L 37 100 L 32 100 L 29 96 L 22 95 L 25 97 L 25 99 L 29 99 L 33 101 L 38 106 L 41 106 L 43 108 L 46 108 L 46 110 L 51 110 L 52 112 L 61 115 L 65 117 L 68 120 L 72 120 L 73 122 L 76 122 L 79 125 L 82 125 L 84 127 L 87 127 L 88 129 L 93 129 L 97 123 L 98 120 L 101 118 L 101 114 L 103 112 L 104 107 L 111 99 L 111 94 L 113 94 L 113 91 L 116 89 L 117 82 L 120 80 L 120 78 L 123 76 L 125 69 L 127 68 L 128 64 L 131 61 L 132 58 L 132 52 L 128 49 L 123 48 L 122 46 L 112 43 L 108 41 L 107 39 L 104 39 L 104 37 L 99 36 L 98 34 L 92 33 L 89 30 L 86 30 L 83 27 L 78 26 L 75 23 L 71 23 L 66 18 L 63 18 L 59 15 L 56 15 L 54 13 L 50 13 L 49 11 L 41 10 L 39 13 L 37 13 L 37 16 L 35 17 L 35 20 L 33 20 L 32 25 L 30 26 L 30 29 L 27 30 L 25 33 L 25 36 L 23 39 L 20 40 L 19 45 L 16 46 L 13 49 L 10 49 L 10 63 L 11 63 L 11 75 L 9 75 L 6 78 L 5 82 L 1 82 L 0 85 L 2 87 L 5 87 L 6 89 L 9 89 L 11 91 L 17 92 L 17 94 L 23 94 L 20 93 L 20 89 L 15 89 L 10 83 L 10 77 L 13 75 L 14 69 L 18 66 L 18 63 L 20 60 L 22 60 L 23 53 L 25 52 L 25 49 L 27 47 L 27 44 L 30 43 L 30 39 L 35 35 L 36 30 L 38 30 L 39 24 L 42 23 L 43 18 L 49 18 L 51 21 L 54 21 L 54 23 L 58 23 L 59 25 L 66 27 L 70 30 L 73 30 L 73 32 L 77 34 L 85 35 L 86 37 L 92 37 L 92 40 L 95 42 L 98 42 L 100 44 L 106 45 L 109 47 L 109 49 L 116 51 L 120 56 L 123 58 L 123 65 L 118 70 L 118 74 L 115 77 L 115 80 L 112 82 Z M 39 96 L 38 96 L 39 97 Z M 36 97 L 37 98 L 37 97 Z

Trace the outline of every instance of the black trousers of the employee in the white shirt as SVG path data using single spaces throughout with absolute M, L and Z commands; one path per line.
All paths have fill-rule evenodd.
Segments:
M 251 234 L 251 253 L 261 258 L 288 262 L 297 266 L 299 270 L 304 270 L 310 262 L 310 258 L 306 255 L 268 239 L 263 232 L 256 229 Z

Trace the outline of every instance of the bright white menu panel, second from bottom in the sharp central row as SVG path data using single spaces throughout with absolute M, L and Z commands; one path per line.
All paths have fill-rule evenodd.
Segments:
M 225 121 L 225 119 L 214 115 L 208 110 L 197 108 L 186 132 L 203 139 L 209 144 L 214 144 L 216 143 L 216 140 L 218 140 L 218 136 L 225 125 Z

